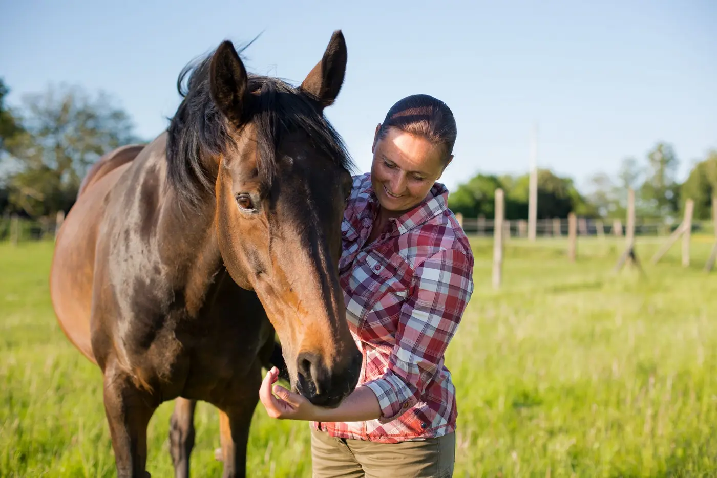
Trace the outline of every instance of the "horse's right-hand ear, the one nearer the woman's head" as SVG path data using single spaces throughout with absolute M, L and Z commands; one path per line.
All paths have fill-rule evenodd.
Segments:
M 336 30 L 323 52 L 323 58 L 301 83 L 301 89 L 322 107 L 331 105 L 341 90 L 343 76 L 346 74 L 346 57 L 346 41 L 341 30 Z

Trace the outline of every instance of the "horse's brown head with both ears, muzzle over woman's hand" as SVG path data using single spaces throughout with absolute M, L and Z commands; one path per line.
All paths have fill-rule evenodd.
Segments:
M 204 68 L 206 75 L 198 81 L 193 75 L 189 89 L 204 82 L 213 103 L 204 112 L 200 142 L 204 156 L 214 158 L 202 167 L 216 173 L 215 224 L 224 264 L 264 305 L 292 387 L 313 403 L 336 405 L 356 386 L 361 368 L 338 284 L 350 160 L 323 117 L 343 83 L 343 35 L 333 34 L 300 87 L 247 75 L 229 42 Z M 191 100 L 190 91 L 188 107 Z

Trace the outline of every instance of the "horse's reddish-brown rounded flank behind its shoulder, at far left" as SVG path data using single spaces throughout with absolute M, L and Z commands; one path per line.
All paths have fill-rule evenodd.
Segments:
M 113 151 L 87 173 L 54 246 L 49 281 L 52 306 L 67 338 L 95 363 L 90 317 L 98 230 L 106 196 L 140 150 L 132 147 Z

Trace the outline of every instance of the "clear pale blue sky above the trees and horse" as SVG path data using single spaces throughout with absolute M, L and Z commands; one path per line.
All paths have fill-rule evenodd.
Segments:
M 202 6 L 204 5 L 204 6 Z M 265 6 L 264 6 L 265 5 Z M 449 188 L 478 172 L 538 163 L 585 184 L 672 143 L 680 178 L 717 148 L 717 2 L 675 1 L 4 1 L 0 76 L 9 102 L 65 82 L 105 90 L 153 138 L 179 104 L 176 77 L 223 39 L 247 67 L 298 84 L 334 29 L 348 44 L 326 115 L 362 171 L 376 123 L 427 93 L 455 113 Z

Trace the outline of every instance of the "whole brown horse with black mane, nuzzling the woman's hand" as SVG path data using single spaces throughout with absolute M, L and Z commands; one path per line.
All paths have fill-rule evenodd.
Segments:
M 244 476 L 272 354 L 313 403 L 355 388 L 361 353 L 338 285 L 351 162 L 323 116 L 345 70 L 340 31 L 300 87 L 248 75 L 223 42 L 181 72 L 166 133 L 83 181 L 57 237 L 52 304 L 103 372 L 119 477 L 148 476 L 147 425 L 174 398 L 176 476 L 189 474 L 196 400 L 219 408 L 224 477 Z

